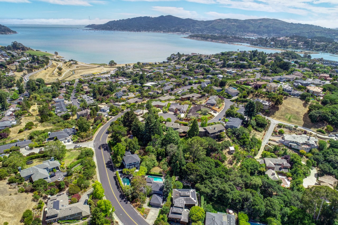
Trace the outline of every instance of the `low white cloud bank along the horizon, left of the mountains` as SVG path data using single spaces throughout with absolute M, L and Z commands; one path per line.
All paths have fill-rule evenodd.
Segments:
M 112 19 L 0 19 L 0 24 L 88 25 L 104 24 Z

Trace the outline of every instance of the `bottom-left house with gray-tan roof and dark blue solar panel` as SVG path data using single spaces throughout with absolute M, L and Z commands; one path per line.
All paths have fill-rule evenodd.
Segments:
M 45 223 L 55 223 L 63 220 L 82 220 L 90 217 L 88 204 L 77 202 L 69 204 L 66 194 L 48 196 L 45 212 Z

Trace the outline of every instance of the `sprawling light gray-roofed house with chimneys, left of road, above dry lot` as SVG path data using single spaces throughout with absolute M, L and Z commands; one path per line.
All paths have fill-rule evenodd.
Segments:
M 25 181 L 29 180 L 30 182 L 34 182 L 39 179 L 44 179 L 50 183 L 52 180 L 49 177 L 49 173 L 53 172 L 54 169 L 59 170 L 59 166 L 61 166 L 61 164 L 54 160 L 54 157 L 51 157 L 50 159 L 43 161 L 42 164 L 24 170 L 21 170 L 21 167 L 18 167 L 18 170 L 20 176 L 25 178 Z

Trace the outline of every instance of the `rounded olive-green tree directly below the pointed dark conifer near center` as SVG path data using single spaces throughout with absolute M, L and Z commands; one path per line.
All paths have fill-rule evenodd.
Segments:
M 186 143 L 186 149 L 192 158 L 192 162 L 195 163 L 196 159 L 206 156 L 206 140 L 200 137 L 193 137 L 188 139 Z

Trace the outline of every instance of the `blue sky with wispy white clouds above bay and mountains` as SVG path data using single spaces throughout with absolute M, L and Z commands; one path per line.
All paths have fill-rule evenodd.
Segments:
M 0 8 L 0 24 L 87 25 L 173 15 L 196 20 L 273 18 L 338 27 L 338 0 L 0 0 Z

